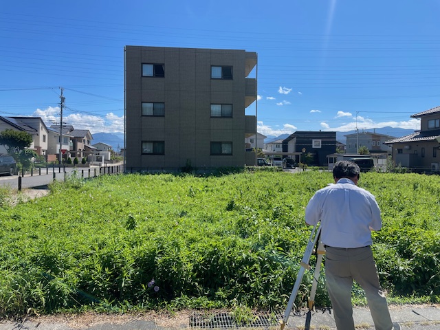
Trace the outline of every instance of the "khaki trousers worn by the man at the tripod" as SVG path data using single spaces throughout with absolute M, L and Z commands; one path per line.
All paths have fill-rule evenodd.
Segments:
M 364 289 L 376 330 L 392 330 L 388 304 L 377 275 L 373 252 L 365 248 L 345 249 L 327 246 L 325 278 L 338 330 L 355 330 L 351 288 L 353 279 Z

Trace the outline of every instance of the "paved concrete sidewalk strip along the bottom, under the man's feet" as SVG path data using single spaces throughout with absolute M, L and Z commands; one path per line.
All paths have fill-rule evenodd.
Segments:
M 404 330 L 439 330 L 440 329 L 440 306 L 428 305 L 405 305 L 391 306 L 391 318 L 393 322 L 399 322 L 401 329 Z M 374 330 L 373 320 L 370 311 L 366 307 L 358 307 L 353 311 L 356 329 Z M 100 316 L 96 316 L 95 320 L 88 322 L 89 325 L 81 325 L 80 323 L 72 323 L 69 320 L 25 320 L 23 322 L 0 321 L 0 330 L 165 330 L 165 329 L 212 329 L 201 327 L 190 327 L 189 317 L 169 318 L 166 322 L 161 320 L 147 320 L 142 318 L 129 318 L 123 320 L 99 320 Z M 89 320 L 90 321 L 90 320 Z M 223 327 L 221 329 L 228 329 Z M 229 329 L 237 329 L 229 328 Z M 251 329 L 251 328 L 247 328 Z M 259 327 L 254 329 L 280 329 L 279 325 L 268 327 Z M 331 309 L 322 309 L 311 311 L 299 311 L 289 318 L 289 322 L 285 330 L 292 329 L 314 329 L 314 330 L 331 330 L 336 329 Z

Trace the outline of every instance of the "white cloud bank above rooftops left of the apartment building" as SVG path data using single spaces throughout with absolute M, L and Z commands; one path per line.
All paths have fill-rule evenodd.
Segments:
M 59 124 L 61 120 L 61 110 L 59 107 L 48 107 L 43 110 L 36 109 L 34 115 L 41 117 L 47 126 Z M 88 113 L 63 113 L 63 122 L 74 126 L 75 129 L 88 129 L 91 134 L 124 131 L 124 116 L 119 117 L 114 113 L 107 113 L 104 116 Z

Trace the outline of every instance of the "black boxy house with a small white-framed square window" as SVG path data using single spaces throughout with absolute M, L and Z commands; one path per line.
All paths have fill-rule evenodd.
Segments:
M 297 131 L 283 140 L 283 153 L 296 153 L 296 162 L 309 155 L 309 165 L 327 166 L 327 155 L 336 153 L 337 144 L 336 132 Z

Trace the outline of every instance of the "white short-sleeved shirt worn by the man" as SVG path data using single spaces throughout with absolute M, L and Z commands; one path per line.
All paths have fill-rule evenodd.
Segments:
M 321 221 L 321 241 L 334 248 L 361 248 L 371 245 L 371 230 L 382 228 L 375 197 L 342 178 L 318 190 L 305 209 L 305 222 Z

